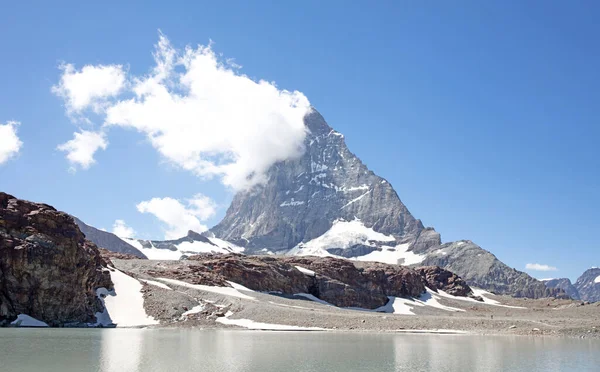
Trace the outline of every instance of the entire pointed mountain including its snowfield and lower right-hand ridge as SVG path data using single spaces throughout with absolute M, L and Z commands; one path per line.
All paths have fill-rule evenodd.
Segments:
M 312 111 L 298 159 L 275 164 L 268 181 L 238 193 L 206 236 L 245 253 L 345 257 L 404 265 L 439 265 L 470 285 L 524 297 L 562 293 L 511 269 L 470 241 L 441 244 L 402 203 L 392 185 L 348 150 L 344 136 Z

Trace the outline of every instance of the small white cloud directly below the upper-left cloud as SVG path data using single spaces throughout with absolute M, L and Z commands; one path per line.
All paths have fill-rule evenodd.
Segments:
M 79 133 L 73 133 L 73 139 L 59 145 L 57 149 L 67 153 L 67 159 L 73 166 L 78 165 L 83 169 L 88 169 L 96 162 L 94 153 L 99 149 L 105 150 L 106 146 L 108 146 L 108 141 L 106 141 L 104 133 L 82 130 Z

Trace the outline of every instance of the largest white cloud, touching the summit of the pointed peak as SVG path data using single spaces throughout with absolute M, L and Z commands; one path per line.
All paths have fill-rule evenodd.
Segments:
M 121 84 L 126 98 L 104 102 L 104 130 L 134 128 L 170 163 L 236 190 L 263 182 L 271 165 L 303 153 L 310 103 L 301 92 L 250 79 L 210 45 L 174 49 L 162 34 L 154 60 L 148 75 Z M 69 94 L 67 106 L 89 105 L 88 93 L 78 95 Z

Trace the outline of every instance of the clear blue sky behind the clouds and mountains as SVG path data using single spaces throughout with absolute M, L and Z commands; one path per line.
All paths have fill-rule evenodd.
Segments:
M 115 127 L 89 169 L 57 146 L 78 128 L 51 92 L 62 63 L 154 66 L 160 29 L 174 48 L 207 45 L 254 79 L 302 92 L 444 241 L 471 239 L 508 265 L 576 278 L 600 264 L 600 6 L 592 1 L 11 2 L 0 11 L 0 124 L 23 143 L 0 189 L 97 227 L 125 220 L 143 238 L 165 225 L 152 198 L 232 197 Z M 88 125 L 86 127 L 86 125 Z M 1 140 L 1 139 L 0 139 Z

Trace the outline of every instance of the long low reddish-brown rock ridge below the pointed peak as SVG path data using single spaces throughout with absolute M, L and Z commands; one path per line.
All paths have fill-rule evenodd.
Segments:
M 338 307 L 376 309 L 392 297 L 419 297 L 425 288 L 472 296 L 464 281 L 440 268 L 414 270 L 377 262 L 353 263 L 331 257 L 246 256 L 203 254 L 178 265 L 156 265 L 153 278 L 229 287 L 230 282 L 254 291 L 283 295 L 308 294 Z

